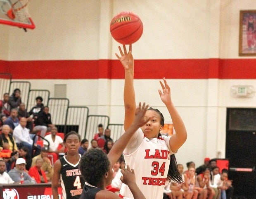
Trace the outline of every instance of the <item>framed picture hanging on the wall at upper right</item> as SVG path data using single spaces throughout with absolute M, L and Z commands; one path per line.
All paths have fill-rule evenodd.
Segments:
M 256 56 L 256 10 L 240 10 L 239 56 Z

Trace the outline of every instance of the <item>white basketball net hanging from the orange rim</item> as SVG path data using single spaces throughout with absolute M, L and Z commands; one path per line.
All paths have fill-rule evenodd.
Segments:
M 11 19 L 17 19 L 17 21 L 25 22 L 30 16 L 28 14 L 28 2 L 30 0 L 17 0 L 12 5 L 12 8 L 8 10 L 7 15 Z M 18 4 L 20 2 L 20 4 Z

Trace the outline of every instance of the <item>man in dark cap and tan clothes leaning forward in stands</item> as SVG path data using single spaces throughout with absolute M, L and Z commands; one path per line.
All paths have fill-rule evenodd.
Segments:
M 50 159 L 48 158 L 49 148 L 48 147 L 42 147 L 41 152 L 38 156 L 35 156 L 32 158 L 32 164 L 31 167 L 36 166 L 36 160 L 38 158 L 43 159 L 43 165 L 41 169 L 45 171 L 46 178 L 48 181 L 52 180 L 52 174 L 53 174 L 53 167 Z

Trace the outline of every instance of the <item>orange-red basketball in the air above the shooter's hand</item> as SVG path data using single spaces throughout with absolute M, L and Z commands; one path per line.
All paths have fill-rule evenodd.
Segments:
M 111 20 L 110 33 L 121 44 L 135 43 L 142 36 L 143 24 L 133 12 L 120 12 Z

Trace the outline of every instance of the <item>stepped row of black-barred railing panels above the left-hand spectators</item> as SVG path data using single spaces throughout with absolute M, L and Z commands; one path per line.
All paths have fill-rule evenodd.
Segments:
M 12 75 L 9 73 L 0 73 L 0 95 L 4 92 L 12 93 L 13 89 L 19 88 L 22 93 L 22 102 L 26 104 L 28 111 L 34 106 L 36 96 L 43 97 L 45 106 L 50 107 L 52 123 L 58 129 L 63 127 L 62 132 L 67 133 L 75 130 L 81 135 L 81 138 L 91 140 L 94 133 L 97 132 L 99 123 L 104 123 L 104 127 L 111 129 L 111 137 L 114 141 L 123 133 L 123 124 L 109 123 L 109 116 L 89 115 L 89 109 L 86 106 L 69 106 L 69 99 L 52 98 L 49 90 L 30 89 L 31 83 L 28 81 L 12 81 Z

